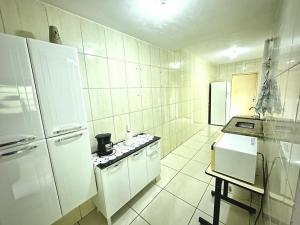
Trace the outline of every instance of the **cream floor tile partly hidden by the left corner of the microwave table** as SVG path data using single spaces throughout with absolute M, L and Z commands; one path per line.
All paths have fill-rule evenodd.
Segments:
M 210 183 L 212 177 L 205 174 L 206 169 L 207 164 L 191 160 L 183 167 L 181 172 L 206 183 Z

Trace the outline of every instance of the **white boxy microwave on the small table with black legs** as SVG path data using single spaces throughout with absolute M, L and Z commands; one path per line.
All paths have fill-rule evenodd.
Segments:
M 254 184 L 258 146 L 256 137 L 222 134 L 213 145 L 212 170 Z

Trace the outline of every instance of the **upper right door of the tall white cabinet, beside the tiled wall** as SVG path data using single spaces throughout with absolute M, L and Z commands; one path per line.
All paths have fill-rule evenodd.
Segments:
M 75 48 L 27 39 L 46 137 L 87 127 Z

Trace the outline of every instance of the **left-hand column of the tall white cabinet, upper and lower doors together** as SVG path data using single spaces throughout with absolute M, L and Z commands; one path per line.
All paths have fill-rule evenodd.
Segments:
M 0 34 L 0 224 L 61 217 L 26 39 Z

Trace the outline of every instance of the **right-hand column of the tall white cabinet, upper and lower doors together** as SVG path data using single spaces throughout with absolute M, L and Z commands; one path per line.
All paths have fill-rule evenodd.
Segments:
M 77 50 L 28 39 L 62 214 L 97 193 Z

